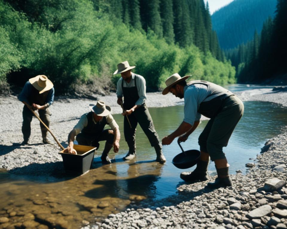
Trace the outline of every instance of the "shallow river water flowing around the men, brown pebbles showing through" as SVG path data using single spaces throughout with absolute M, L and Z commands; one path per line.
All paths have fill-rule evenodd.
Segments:
M 246 89 L 246 86 L 236 85 L 230 86 L 230 90 L 236 92 L 241 87 Z M 265 141 L 280 134 L 282 127 L 287 125 L 286 108 L 253 101 L 244 102 L 244 106 L 244 115 L 224 148 L 231 174 L 235 174 L 236 170 L 245 173 L 245 164 L 254 162 Z M 174 131 L 184 117 L 183 105 L 149 108 L 149 112 L 160 139 Z M 120 126 L 122 139 L 120 151 L 110 153 L 113 159 L 110 165 L 101 165 L 100 155 L 104 146 L 101 143 L 95 154 L 93 169 L 80 177 L 64 174 L 63 179 L 63 174 L 57 175 L 57 171 L 62 171 L 61 162 L 55 163 L 53 179 L 0 172 L 0 217 L 10 219 L 0 224 L 0 228 L 8 225 L 13 228 L 11 224 L 32 228 L 80 228 L 83 219 L 92 222 L 95 217 L 100 219 L 127 207 L 157 207 L 181 201 L 184 197 L 176 189 L 183 184 L 179 174 L 193 168 L 181 170 L 172 165 L 173 157 L 181 151 L 177 141 L 164 146 L 167 163 L 161 165 L 155 162 L 154 148 L 138 126 L 136 160 L 125 162 L 122 157 L 128 147 L 123 137 L 123 117 L 113 116 Z M 188 140 L 181 143 L 184 150 L 199 149 L 198 137 L 206 123 L 207 120 L 202 121 Z M 214 163 L 210 163 L 209 172 L 214 174 Z

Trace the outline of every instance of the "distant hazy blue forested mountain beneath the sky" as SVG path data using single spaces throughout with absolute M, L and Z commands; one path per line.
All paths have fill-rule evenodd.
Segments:
M 232 49 L 250 41 L 254 31 L 261 32 L 268 16 L 274 17 L 276 0 L 234 0 L 213 13 L 212 28 L 220 47 Z

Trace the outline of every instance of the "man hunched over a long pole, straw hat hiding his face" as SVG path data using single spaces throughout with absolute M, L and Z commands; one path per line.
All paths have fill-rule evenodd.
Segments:
M 50 124 L 50 111 L 49 106 L 54 101 L 54 85 L 45 75 L 37 75 L 29 79 L 18 96 L 18 99 L 25 104 L 23 108 L 23 124 L 22 133 L 24 137 L 23 145 L 28 144 L 31 134 L 31 121 L 33 113 L 29 108 L 38 110 L 39 116 L 42 121 L 49 127 Z M 29 108 L 28 108 L 29 107 Z M 40 123 L 42 138 L 44 144 L 51 144 L 47 139 L 47 129 Z

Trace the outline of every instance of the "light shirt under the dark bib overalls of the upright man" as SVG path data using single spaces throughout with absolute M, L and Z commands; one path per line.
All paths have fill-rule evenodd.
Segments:
M 123 87 L 135 86 L 135 75 L 136 74 L 132 72 L 132 79 L 129 83 L 123 81 L 122 77 L 117 81 L 117 97 L 120 98 L 123 97 L 122 81 L 123 81 Z M 136 81 L 137 81 L 138 96 L 140 98 L 135 102 L 135 105 L 141 106 L 146 101 L 146 80 L 141 75 L 136 76 L 137 76 Z

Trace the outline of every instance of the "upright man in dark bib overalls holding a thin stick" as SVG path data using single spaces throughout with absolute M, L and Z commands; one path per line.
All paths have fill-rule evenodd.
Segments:
M 129 152 L 123 159 L 132 160 L 135 158 L 135 132 L 139 123 L 148 137 L 151 146 L 155 148 L 156 161 L 165 163 L 166 159 L 162 153 L 162 145 L 159 141 L 158 134 L 155 131 L 152 117 L 145 104 L 146 81 L 141 75 L 133 73 L 131 71 L 133 68 L 135 68 L 135 66 L 129 66 L 129 62 L 124 61 L 117 65 L 117 70 L 114 72 L 114 75 L 121 74 L 122 76 L 117 81 L 117 103 L 120 105 L 123 104 L 123 108 L 125 109 L 125 112 L 123 112 L 123 115 L 125 116 L 123 131 L 129 146 Z M 127 120 L 127 118 L 129 120 Z

